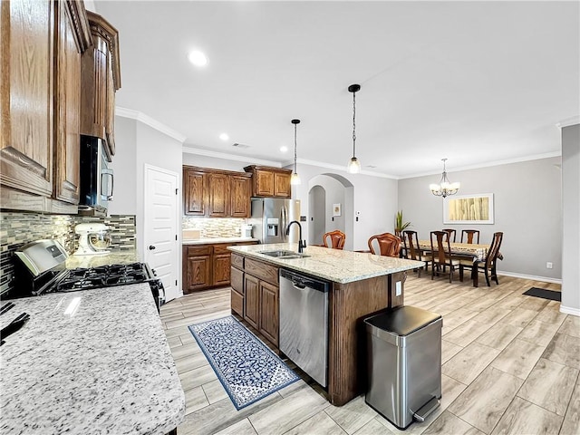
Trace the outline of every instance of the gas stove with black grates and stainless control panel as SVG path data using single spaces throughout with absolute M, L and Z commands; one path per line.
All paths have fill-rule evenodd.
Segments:
M 16 285 L 11 297 L 75 292 L 149 283 L 158 311 L 165 292 L 147 263 L 65 269 L 66 251 L 56 240 L 39 240 L 16 250 Z

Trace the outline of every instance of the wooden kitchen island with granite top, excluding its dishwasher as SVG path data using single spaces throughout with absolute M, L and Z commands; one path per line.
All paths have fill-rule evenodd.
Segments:
M 288 250 L 296 252 L 297 244 L 271 244 L 244 247 L 229 247 L 232 255 L 232 308 L 237 307 L 240 314 L 238 295 L 243 300 L 243 313 L 246 318 L 247 306 L 252 299 L 247 294 L 246 285 L 266 280 L 266 304 L 259 306 L 262 312 L 257 315 L 256 327 L 274 345 L 277 345 L 279 327 L 277 288 L 274 285 L 275 270 L 285 268 L 322 278 L 331 283 L 329 292 L 329 335 L 328 335 L 328 395 L 333 405 L 342 406 L 351 401 L 366 388 L 366 336 L 362 319 L 384 308 L 402 305 L 404 302 L 404 282 L 407 271 L 424 266 L 423 262 L 375 256 L 366 253 L 329 249 L 326 247 L 306 247 L 304 257 L 284 259 L 266 256 L 263 252 Z M 244 276 L 234 280 L 234 272 Z M 248 279 L 247 276 L 249 276 Z M 241 284 L 240 284 L 241 283 Z M 241 287 L 241 288 L 240 288 Z M 241 289 L 242 293 L 239 294 Z M 236 300 L 235 300 L 236 299 Z M 272 313 L 264 313 L 264 309 Z M 251 319 L 250 319 L 251 320 Z M 263 328 L 262 324 L 267 325 Z

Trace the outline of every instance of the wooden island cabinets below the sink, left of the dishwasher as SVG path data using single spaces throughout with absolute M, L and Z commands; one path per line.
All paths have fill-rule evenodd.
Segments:
M 237 253 L 232 254 L 231 265 L 232 311 L 277 347 L 280 318 L 278 267 Z M 239 309 L 240 300 L 243 310 Z

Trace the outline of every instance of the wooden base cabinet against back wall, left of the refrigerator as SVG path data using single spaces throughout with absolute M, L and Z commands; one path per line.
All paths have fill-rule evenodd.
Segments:
M 227 247 L 255 245 L 257 242 L 183 246 L 183 292 L 191 293 L 230 284 L 231 251 Z M 239 276 L 236 276 L 239 278 Z M 234 285 L 243 296 L 241 279 Z

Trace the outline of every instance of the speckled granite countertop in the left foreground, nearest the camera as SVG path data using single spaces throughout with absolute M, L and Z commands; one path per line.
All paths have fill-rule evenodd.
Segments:
M 184 419 L 148 284 L 12 302 L 0 325 L 30 320 L 0 347 L 0 433 L 166 434 Z

